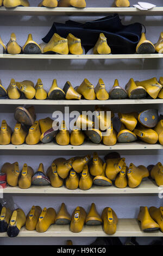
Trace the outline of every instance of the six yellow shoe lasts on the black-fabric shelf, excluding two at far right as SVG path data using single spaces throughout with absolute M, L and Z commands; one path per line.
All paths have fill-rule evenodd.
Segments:
M 54 33 L 51 40 L 45 44 L 37 44 L 33 40 L 32 34 L 28 35 L 27 41 L 23 47 L 17 44 L 16 35 L 11 33 L 10 40 L 7 46 L 4 45 L 0 37 L 0 47 L 3 53 L 9 54 L 84 54 L 81 40 L 76 38 L 73 34 L 69 33 L 67 38 L 62 38 L 59 34 Z M 93 54 L 110 54 L 111 49 L 107 44 L 105 35 L 99 34 L 99 38 L 93 47 Z

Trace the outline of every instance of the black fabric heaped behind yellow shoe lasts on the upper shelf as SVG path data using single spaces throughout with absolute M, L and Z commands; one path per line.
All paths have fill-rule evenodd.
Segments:
M 140 23 L 124 26 L 120 17 L 115 14 L 84 24 L 71 20 L 65 24 L 54 22 L 50 31 L 42 40 L 46 43 L 49 42 L 54 33 L 58 33 L 64 38 L 67 37 L 68 33 L 72 33 L 80 38 L 82 45 L 86 47 L 86 50 L 89 50 L 95 46 L 99 34 L 104 33 L 112 54 L 132 54 L 136 51 L 141 32 L 142 25 Z

